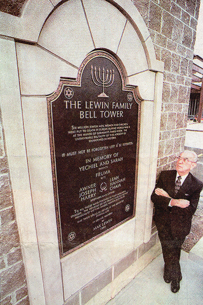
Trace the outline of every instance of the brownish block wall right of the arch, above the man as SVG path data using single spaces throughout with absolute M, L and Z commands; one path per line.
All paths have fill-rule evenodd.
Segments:
M 184 149 L 199 0 L 133 0 L 164 65 L 158 172 Z

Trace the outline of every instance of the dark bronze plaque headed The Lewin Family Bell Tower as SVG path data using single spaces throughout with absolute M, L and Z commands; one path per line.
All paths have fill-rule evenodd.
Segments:
M 134 216 L 140 101 L 106 51 L 47 97 L 60 255 Z

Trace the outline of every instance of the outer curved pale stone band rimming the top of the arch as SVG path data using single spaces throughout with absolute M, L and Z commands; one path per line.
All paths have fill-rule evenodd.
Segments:
M 156 60 L 155 57 L 154 47 L 148 28 L 133 3 L 130 0 L 105 1 L 111 3 L 120 10 L 132 23 L 132 26 L 145 49 L 149 69 L 153 71 L 162 71 L 162 64 Z M 69 2 L 72 2 L 72 0 L 69 0 Z M 86 1 L 84 0 L 84 6 L 85 2 Z M 52 11 L 58 8 L 60 3 L 64 3 L 64 1 L 43 0 L 39 2 L 37 0 L 28 0 L 23 7 L 21 17 L 0 12 L 0 35 L 36 43 L 46 18 L 48 18 Z M 87 4 L 88 2 L 86 5 Z M 91 6 L 93 6 L 92 2 Z

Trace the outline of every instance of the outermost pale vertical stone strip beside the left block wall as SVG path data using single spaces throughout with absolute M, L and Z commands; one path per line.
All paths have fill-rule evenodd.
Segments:
M 27 167 L 15 42 L 0 39 L 0 51 L 3 126 L 29 299 L 30 304 L 45 305 L 38 236 Z

